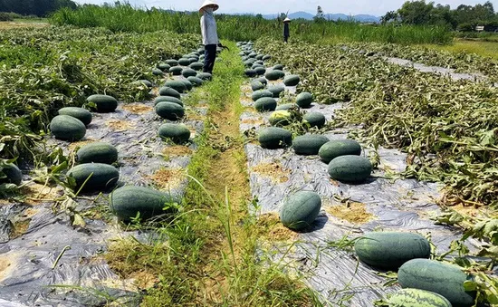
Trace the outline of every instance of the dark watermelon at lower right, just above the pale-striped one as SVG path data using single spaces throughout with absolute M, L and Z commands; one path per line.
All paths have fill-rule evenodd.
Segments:
M 397 282 L 402 288 L 426 290 L 444 296 L 455 307 L 474 305 L 475 292 L 466 292 L 464 282 L 473 277 L 454 264 L 435 260 L 413 259 L 401 265 Z

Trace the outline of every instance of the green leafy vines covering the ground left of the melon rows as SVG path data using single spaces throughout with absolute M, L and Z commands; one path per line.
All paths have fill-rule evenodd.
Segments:
M 158 43 L 160 41 L 161 43 Z M 19 29 L 0 34 L 2 158 L 33 159 L 32 150 L 56 110 L 81 106 L 95 93 L 140 101 L 148 90 L 130 82 L 155 81 L 155 62 L 197 45 L 195 34 L 113 34 L 73 27 Z

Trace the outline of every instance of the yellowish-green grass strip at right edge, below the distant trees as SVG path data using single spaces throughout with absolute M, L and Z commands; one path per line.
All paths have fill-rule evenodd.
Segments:
M 426 44 L 423 46 L 450 53 L 475 53 L 498 60 L 498 42 L 457 39 L 448 45 Z

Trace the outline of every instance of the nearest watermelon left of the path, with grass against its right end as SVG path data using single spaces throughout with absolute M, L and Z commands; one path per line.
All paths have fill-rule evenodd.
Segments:
M 138 214 L 142 220 L 175 212 L 171 204 L 177 199 L 148 187 L 120 187 L 110 194 L 110 209 L 123 222 Z M 165 210 L 168 208 L 168 210 Z

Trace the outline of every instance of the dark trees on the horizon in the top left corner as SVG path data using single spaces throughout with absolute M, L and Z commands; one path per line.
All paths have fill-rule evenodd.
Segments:
M 62 7 L 77 8 L 72 0 L 0 0 L 0 12 L 46 16 Z

